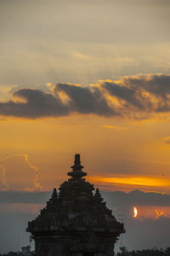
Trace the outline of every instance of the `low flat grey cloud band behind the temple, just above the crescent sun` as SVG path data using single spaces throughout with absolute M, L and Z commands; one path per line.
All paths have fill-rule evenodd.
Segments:
M 50 197 L 52 192 L 49 191 L 0 191 L 0 203 L 26 203 L 26 204 L 43 204 Z M 144 192 L 139 189 L 129 193 L 122 191 L 102 192 L 105 201 L 110 207 L 129 207 L 139 206 L 160 206 L 170 207 L 170 195 L 155 192 Z

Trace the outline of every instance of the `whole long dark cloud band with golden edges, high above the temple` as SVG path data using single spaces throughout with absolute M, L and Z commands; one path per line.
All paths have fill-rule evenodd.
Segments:
M 128 76 L 88 86 L 56 84 L 49 92 L 19 89 L 8 102 L 0 103 L 1 116 L 26 119 L 61 117 L 71 113 L 148 119 L 169 112 L 170 75 L 163 74 Z

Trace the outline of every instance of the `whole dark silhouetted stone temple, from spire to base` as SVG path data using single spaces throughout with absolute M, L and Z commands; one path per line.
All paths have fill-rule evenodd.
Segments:
M 36 256 L 112 256 L 124 232 L 94 185 L 86 182 L 80 154 L 75 155 L 71 178 L 62 183 L 40 215 L 28 223 Z

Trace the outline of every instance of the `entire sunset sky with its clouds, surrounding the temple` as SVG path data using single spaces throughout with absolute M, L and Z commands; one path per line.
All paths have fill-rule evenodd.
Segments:
M 125 245 L 168 246 L 170 206 L 160 198 L 170 192 L 169 8 L 169 0 L 0 0 L 0 253 L 26 244 L 28 219 L 77 153 L 116 217 L 126 215 Z M 1 193 L 27 194 L 18 202 Z M 29 193 L 44 197 L 27 202 Z M 122 195 L 132 199 L 125 208 Z

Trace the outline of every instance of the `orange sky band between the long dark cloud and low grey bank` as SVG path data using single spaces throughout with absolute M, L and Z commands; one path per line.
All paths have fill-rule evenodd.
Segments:
M 1 179 L 1 188 L 59 186 L 67 179 L 74 154 L 80 153 L 87 178 L 103 189 L 169 192 L 168 126 L 166 121 L 115 121 L 80 115 L 1 121 L 0 166 L 6 183 Z

